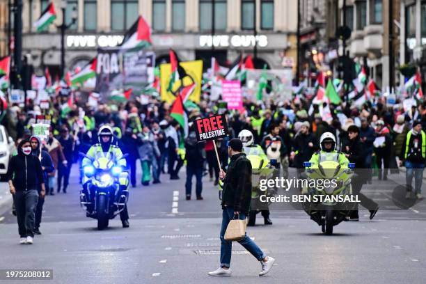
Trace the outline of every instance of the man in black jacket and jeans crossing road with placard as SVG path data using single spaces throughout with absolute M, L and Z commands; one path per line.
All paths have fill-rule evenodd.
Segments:
M 210 276 L 230 276 L 230 260 L 232 253 L 232 242 L 225 239 L 228 223 L 234 219 L 246 219 L 251 202 L 251 163 L 242 152 L 242 141 L 234 138 L 229 141 L 228 154 L 230 164 L 227 173 L 221 171 L 219 178 L 223 180 L 222 198 L 222 227 L 221 227 L 221 267 L 209 272 Z M 238 241 L 249 251 L 262 265 L 259 276 L 269 272 L 274 265 L 274 258 L 268 257 L 260 247 L 246 234 L 244 239 Z

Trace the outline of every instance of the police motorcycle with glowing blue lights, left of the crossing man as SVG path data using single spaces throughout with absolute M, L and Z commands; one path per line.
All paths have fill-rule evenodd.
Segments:
M 110 145 L 110 149 L 113 147 L 116 146 Z M 87 154 L 79 153 L 84 158 L 80 205 L 87 217 L 97 219 L 97 229 L 103 230 L 110 219 L 125 210 L 129 199 L 129 178 L 123 166 L 127 154 L 117 158 L 110 151 L 105 155 L 102 150 L 91 151 L 92 148 Z

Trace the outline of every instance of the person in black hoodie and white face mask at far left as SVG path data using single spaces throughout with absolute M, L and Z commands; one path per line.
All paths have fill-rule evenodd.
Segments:
M 29 140 L 19 143 L 18 154 L 10 159 L 6 178 L 16 207 L 19 243 L 33 244 L 35 209 L 38 198 L 45 198 L 45 182 L 40 159 L 31 155 Z

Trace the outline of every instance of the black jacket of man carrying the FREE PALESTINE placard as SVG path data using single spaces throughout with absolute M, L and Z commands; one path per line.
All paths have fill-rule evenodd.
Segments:
M 240 153 L 230 158 L 226 178 L 223 182 L 222 208 L 231 207 L 234 211 L 248 213 L 251 201 L 251 162 L 246 154 Z

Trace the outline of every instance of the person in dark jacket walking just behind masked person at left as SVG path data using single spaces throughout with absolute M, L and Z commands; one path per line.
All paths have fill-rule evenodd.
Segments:
M 52 162 L 52 158 L 50 157 L 49 153 L 45 150 L 42 150 L 42 143 L 40 139 L 38 139 L 37 136 L 31 136 L 30 138 L 31 143 L 31 154 L 33 156 L 38 157 L 40 160 L 40 163 L 42 165 L 43 170 L 43 181 L 45 182 L 45 188 L 49 189 L 49 173 L 52 173 L 54 171 L 54 164 Z M 40 187 L 38 187 L 38 191 L 40 191 Z M 43 211 L 43 205 L 45 204 L 45 198 L 38 198 L 38 203 L 36 207 L 36 223 L 34 225 L 34 234 L 41 235 L 41 232 L 39 230 L 41 218 L 42 218 L 42 211 Z

